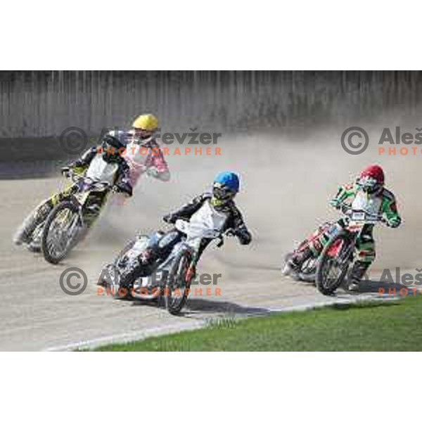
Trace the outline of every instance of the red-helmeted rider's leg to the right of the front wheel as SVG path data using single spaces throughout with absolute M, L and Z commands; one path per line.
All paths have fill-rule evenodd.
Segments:
M 354 262 L 352 270 L 350 271 L 349 290 L 359 290 L 359 283 L 366 274 L 366 271 L 371 267 L 375 260 L 375 241 L 372 236 L 372 229 L 369 228 L 362 232 L 362 235 L 357 239 L 357 260 Z

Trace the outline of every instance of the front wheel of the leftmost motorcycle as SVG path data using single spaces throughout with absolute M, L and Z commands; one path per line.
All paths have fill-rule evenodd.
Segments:
M 41 238 L 44 258 L 58 264 L 75 246 L 80 229 L 79 210 L 71 202 L 63 202 L 53 208 L 46 219 Z

